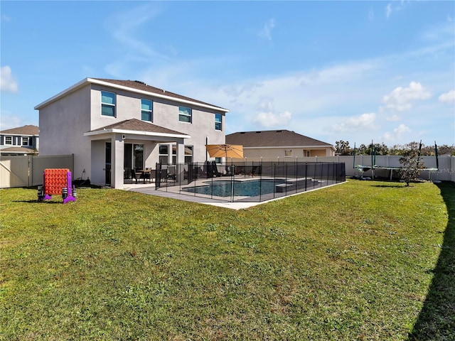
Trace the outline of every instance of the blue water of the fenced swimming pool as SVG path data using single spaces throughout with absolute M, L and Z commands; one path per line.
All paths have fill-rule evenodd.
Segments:
M 234 181 L 234 196 L 256 197 L 258 195 L 274 193 L 275 185 L 279 185 L 280 183 L 284 183 L 284 180 Z M 230 197 L 232 181 L 213 181 L 209 185 L 182 188 L 182 190 L 190 193 L 215 195 L 217 197 Z

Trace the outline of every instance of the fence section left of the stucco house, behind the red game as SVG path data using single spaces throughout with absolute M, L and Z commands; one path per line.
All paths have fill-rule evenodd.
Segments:
M 1 156 L 0 188 L 41 185 L 46 168 L 68 168 L 73 173 L 74 155 Z

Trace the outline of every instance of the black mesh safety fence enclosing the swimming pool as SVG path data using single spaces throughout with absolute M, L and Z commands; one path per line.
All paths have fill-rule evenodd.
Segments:
M 343 162 L 156 164 L 156 190 L 227 202 L 262 202 L 346 181 Z

